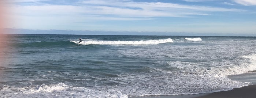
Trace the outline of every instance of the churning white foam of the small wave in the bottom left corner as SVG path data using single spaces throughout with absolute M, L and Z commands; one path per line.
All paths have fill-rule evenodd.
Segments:
M 33 86 L 25 88 L 6 86 L 0 90 L 0 95 L 1 98 L 127 98 L 126 94 L 116 90 L 92 90 L 85 87 L 68 86 L 64 83 L 49 86 L 43 84 L 39 88 Z

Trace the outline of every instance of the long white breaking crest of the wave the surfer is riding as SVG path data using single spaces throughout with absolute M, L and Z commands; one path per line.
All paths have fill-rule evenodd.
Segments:
M 77 43 L 78 41 L 71 41 Z M 90 45 L 90 44 L 123 44 L 123 45 L 143 45 L 143 44 L 163 44 L 168 42 L 174 42 L 171 38 L 167 39 L 155 39 L 155 40 L 141 40 L 141 41 L 82 41 L 80 44 L 82 45 Z

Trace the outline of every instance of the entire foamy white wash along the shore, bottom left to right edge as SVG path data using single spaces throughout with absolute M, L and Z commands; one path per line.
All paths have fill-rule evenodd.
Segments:
M 228 79 L 227 75 L 246 73 L 256 69 L 256 54 L 241 56 L 238 65 L 215 66 L 208 68 L 197 63 L 170 62 L 167 65 L 183 69 L 168 71 L 151 68 L 146 75 L 122 73 L 110 77 L 116 85 L 74 87 L 64 83 L 31 85 L 29 87 L 0 86 L 3 97 L 78 97 L 78 98 L 127 98 L 148 95 L 189 95 L 232 90 L 248 86 L 248 82 Z M 188 70 L 189 69 L 189 70 Z M 106 78 L 99 78 L 105 80 Z M 174 81 L 175 80 L 175 81 Z M 203 88 L 202 88 L 203 87 Z

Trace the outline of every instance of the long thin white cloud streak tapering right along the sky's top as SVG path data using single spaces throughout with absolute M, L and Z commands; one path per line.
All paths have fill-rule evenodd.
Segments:
M 203 0 L 202 0 L 203 1 Z M 86 0 L 82 1 L 84 4 L 90 5 L 104 5 L 104 6 L 114 6 L 114 7 L 128 7 L 128 8 L 141 8 L 143 10 L 173 10 L 174 8 L 197 11 L 243 11 L 239 9 L 229 9 L 229 8 L 219 8 L 219 7 L 207 7 L 207 6 L 196 6 L 196 5 L 181 5 L 174 3 L 162 3 L 162 2 L 133 2 L 126 1 L 122 2 L 120 0 Z M 171 9 L 172 8 L 172 9 Z M 183 10 L 184 11 L 184 10 Z

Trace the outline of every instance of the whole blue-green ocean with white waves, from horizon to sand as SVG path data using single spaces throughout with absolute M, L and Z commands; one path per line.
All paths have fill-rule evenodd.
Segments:
M 256 37 L 8 34 L 0 98 L 127 98 L 232 90 Z M 82 39 L 80 44 L 78 38 Z

